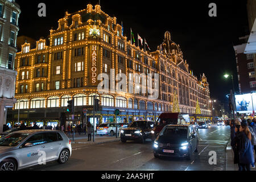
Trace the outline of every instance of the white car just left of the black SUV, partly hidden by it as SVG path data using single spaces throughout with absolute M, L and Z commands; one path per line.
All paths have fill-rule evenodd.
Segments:
M 116 134 L 116 130 L 119 131 L 121 126 L 125 126 L 124 123 L 103 123 L 96 128 L 97 134 L 101 137 L 103 135 L 110 135 L 110 137 L 113 137 Z

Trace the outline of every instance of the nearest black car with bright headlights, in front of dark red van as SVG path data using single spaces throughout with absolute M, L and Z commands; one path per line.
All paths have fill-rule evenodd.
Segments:
M 191 160 L 198 152 L 199 140 L 192 125 L 167 125 L 154 142 L 154 156 L 181 157 Z

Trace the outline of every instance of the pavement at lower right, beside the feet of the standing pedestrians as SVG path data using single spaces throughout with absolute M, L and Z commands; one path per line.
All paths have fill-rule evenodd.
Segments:
M 238 165 L 234 164 L 234 152 L 230 143 L 231 139 L 226 147 L 226 171 L 238 171 Z M 256 171 L 256 168 L 251 168 L 251 171 Z

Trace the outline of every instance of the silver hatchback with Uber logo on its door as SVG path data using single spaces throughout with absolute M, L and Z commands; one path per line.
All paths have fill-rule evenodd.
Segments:
M 16 171 L 55 160 L 64 164 L 71 153 L 71 140 L 61 131 L 16 131 L 0 138 L 0 171 Z

